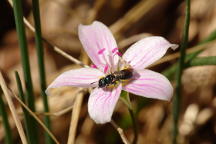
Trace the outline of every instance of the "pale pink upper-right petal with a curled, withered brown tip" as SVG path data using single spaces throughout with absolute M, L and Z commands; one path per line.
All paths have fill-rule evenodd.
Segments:
M 123 59 L 134 69 L 144 69 L 165 55 L 168 48 L 178 45 L 169 43 L 159 36 L 144 38 L 133 44 L 123 55 Z

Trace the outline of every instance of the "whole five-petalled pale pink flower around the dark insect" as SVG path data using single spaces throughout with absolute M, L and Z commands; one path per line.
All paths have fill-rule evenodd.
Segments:
M 133 44 L 121 58 L 114 37 L 104 24 L 95 21 L 88 26 L 79 25 L 78 35 L 94 67 L 66 71 L 48 89 L 60 86 L 96 87 L 88 101 L 89 115 L 96 123 L 111 121 L 121 90 L 143 97 L 170 100 L 173 87 L 168 79 L 145 68 L 160 59 L 168 48 L 176 49 L 178 45 L 170 44 L 163 37 L 147 37 Z M 130 81 L 118 82 L 112 87 L 98 87 L 99 79 L 126 67 L 133 69 Z

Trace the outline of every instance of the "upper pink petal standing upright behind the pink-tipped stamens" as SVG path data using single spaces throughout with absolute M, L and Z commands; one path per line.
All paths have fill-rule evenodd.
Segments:
M 91 25 L 79 25 L 78 35 L 88 56 L 100 70 L 116 66 L 118 55 L 114 50 L 117 44 L 107 26 L 98 21 Z

